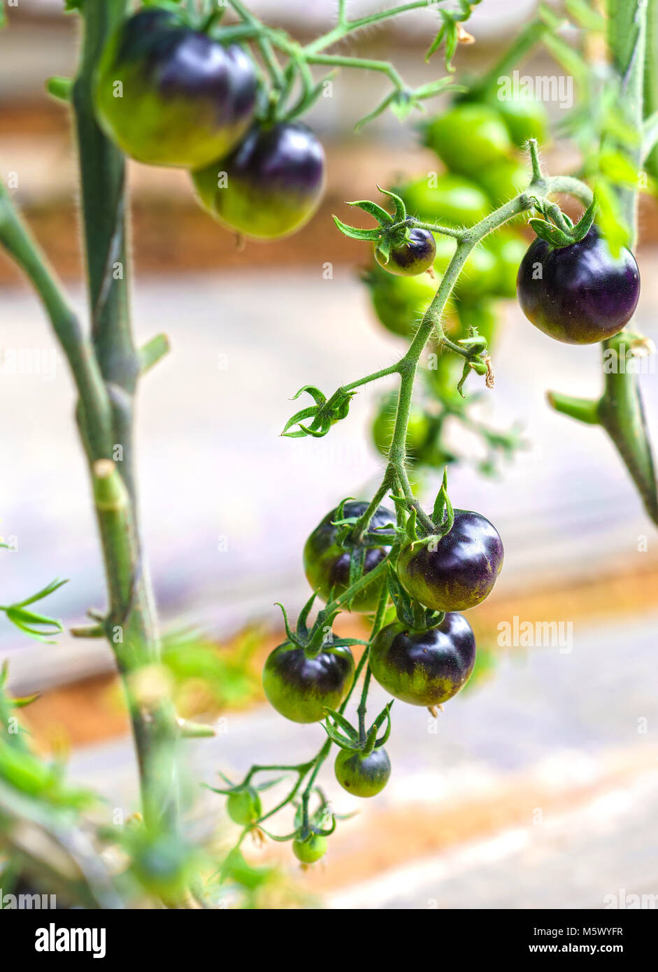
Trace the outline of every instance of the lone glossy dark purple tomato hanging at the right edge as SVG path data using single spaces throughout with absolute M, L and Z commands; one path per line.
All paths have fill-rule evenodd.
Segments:
M 597 226 L 571 246 L 537 239 L 516 278 L 521 310 L 536 328 L 567 344 L 594 344 L 631 319 L 640 296 L 640 271 L 623 247 L 609 251 Z

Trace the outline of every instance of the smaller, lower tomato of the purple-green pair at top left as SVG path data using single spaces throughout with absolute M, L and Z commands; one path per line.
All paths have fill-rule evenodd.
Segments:
M 297 121 L 256 125 L 227 158 L 192 173 L 202 204 L 252 239 L 281 239 L 315 213 L 325 188 L 325 152 Z

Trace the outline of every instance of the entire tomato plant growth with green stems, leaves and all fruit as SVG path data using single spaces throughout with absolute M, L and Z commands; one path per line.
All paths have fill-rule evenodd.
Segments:
M 263 668 L 272 706 L 294 722 L 320 723 L 326 739 L 303 762 L 254 763 L 237 782 L 222 775 L 226 785 L 217 792 L 240 831 L 217 871 L 220 882 L 248 886 L 265 880 L 242 856 L 248 834 L 290 843 L 303 865 L 324 856 L 341 819 L 318 785 L 333 746 L 339 749 L 335 777 L 344 789 L 371 797 L 386 785 L 392 702 L 368 726 L 373 678 L 399 702 L 433 714 L 468 681 L 476 648 L 460 611 L 491 593 L 502 569 L 502 539 L 484 515 L 453 507 L 445 471 L 430 508 L 410 481 L 410 459 L 435 468 L 464 461 L 443 438 L 453 419 L 479 434 L 489 450 L 481 471 L 491 471 L 494 454 L 506 458 L 521 444 L 513 431 L 500 433 L 474 420 L 465 392 L 467 385 L 478 395 L 494 387 L 496 301 L 512 295 L 515 267 L 521 306 L 537 327 L 560 340 L 601 341 L 605 354 L 622 353 L 622 329 L 640 287 L 632 253 L 638 177 L 644 163 L 653 166 L 658 141 L 656 106 L 643 93 L 644 76 L 655 73 L 655 52 L 644 43 L 647 5 L 610 0 L 602 25 L 592 11 L 584 17 L 581 5 L 569 4 L 571 46 L 560 33 L 563 21 L 541 8 L 509 51 L 465 85 L 455 83 L 451 62 L 459 43 L 472 40 L 464 21 L 474 3 L 441 7 L 428 55 L 443 50 L 445 75 L 426 85 L 408 86 L 387 61 L 336 51 L 363 28 L 434 5 L 419 0 L 349 17 L 345 0 L 339 0 L 328 33 L 301 43 L 269 27 L 240 0 L 228 5 L 152 0 L 137 13 L 125 0 L 67 3 L 83 21 L 80 65 L 74 79 L 52 79 L 48 89 L 70 106 L 75 121 L 89 327 L 83 327 L 2 184 L 0 243 L 40 296 L 76 386 L 108 607 L 90 609 L 90 623 L 74 634 L 105 638 L 115 652 L 137 750 L 142 814 L 120 836 L 109 838 L 107 827 L 94 831 L 98 845 L 109 845 L 126 861 L 120 881 L 108 873 L 100 853 L 91 854 L 88 866 L 87 837 L 80 850 L 87 795 L 62 785 L 59 767 L 45 765 L 24 733 L 7 738 L 9 713 L 26 700 L 8 695 L 3 673 L 0 839 L 15 856 L 24 853 L 13 826 L 5 826 L 6 819 L 14 823 L 20 816 L 19 804 L 20 813 L 44 827 L 62 851 L 66 866 L 57 877 L 85 906 L 121 907 L 130 894 L 124 888 L 135 886 L 171 907 L 190 897 L 202 906 L 208 900 L 206 889 L 199 888 L 200 851 L 184 836 L 186 788 L 180 775 L 184 741 L 213 730 L 180 718 L 167 685 L 153 678 L 162 651 L 136 502 L 133 401 L 138 380 L 166 353 L 167 341 L 156 335 L 138 348 L 131 330 L 124 155 L 189 170 L 201 205 L 222 226 L 273 240 L 303 226 L 324 191 L 324 150 L 303 121 L 328 81 L 314 72 L 347 68 L 386 78 L 386 95 L 360 125 L 387 109 L 404 119 L 439 93 L 452 98 L 422 125 L 424 144 L 441 171 L 421 179 L 410 174 L 398 180 L 397 191 L 352 201 L 368 226 L 334 218 L 339 232 L 363 242 L 374 309 L 404 346 L 393 364 L 346 379 L 329 397 L 304 385 L 294 398 L 309 399 L 283 434 L 329 434 L 348 418 L 359 390 L 382 379 L 395 381 L 396 390 L 386 392 L 390 433 L 380 424 L 375 434 L 386 462 L 372 495 L 358 501 L 336 497 L 335 508 L 306 541 L 303 566 L 311 596 L 294 624 L 284 609 L 286 640 Z M 225 16 L 227 8 L 231 14 Z M 582 65 L 581 76 L 590 81 L 592 33 L 607 44 L 609 71 L 599 87 L 583 84 L 582 104 L 564 125 L 581 149 L 577 176 L 551 175 L 539 157 L 546 129 L 542 110 L 523 100 L 507 103 L 497 79 L 537 43 L 546 43 L 574 68 Z M 519 146 L 526 142 L 524 157 Z M 555 201 L 563 195 L 582 208 L 575 224 Z M 524 254 L 518 225 L 526 217 L 537 239 Z M 115 272 L 118 265 L 121 273 Z M 642 341 L 641 335 L 628 336 Z M 421 382 L 422 403 L 414 400 Z M 600 399 L 551 393 L 549 401 L 558 412 L 606 431 L 658 522 L 653 457 L 634 372 L 606 372 Z M 121 463 L 115 459 L 118 442 Z M 31 606 L 55 588 L 0 609 L 32 637 L 52 636 L 59 622 Z M 347 611 L 366 616 L 367 637 L 343 638 L 333 631 L 338 615 Z M 117 631 L 121 639 L 114 637 Z M 360 699 L 348 717 L 357 686 Z M 283 798 L 267 806 L 260 794 L 284 781 Z M 265 828 L 290 808 L 290 833 Z M 51 864 L 34 857 L 30 867 L 50 874 Z M 215 857 L 206 863 L 211 861 L 217 864 Z

